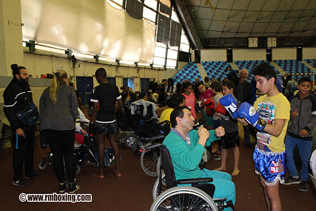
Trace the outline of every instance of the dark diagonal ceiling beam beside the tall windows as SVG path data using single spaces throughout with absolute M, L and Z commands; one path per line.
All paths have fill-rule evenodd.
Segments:
M 192 49 L 203 49 L 202 42 L 193 24 L 185 0 L 171 0 L 175 12 L 182 24 Z

